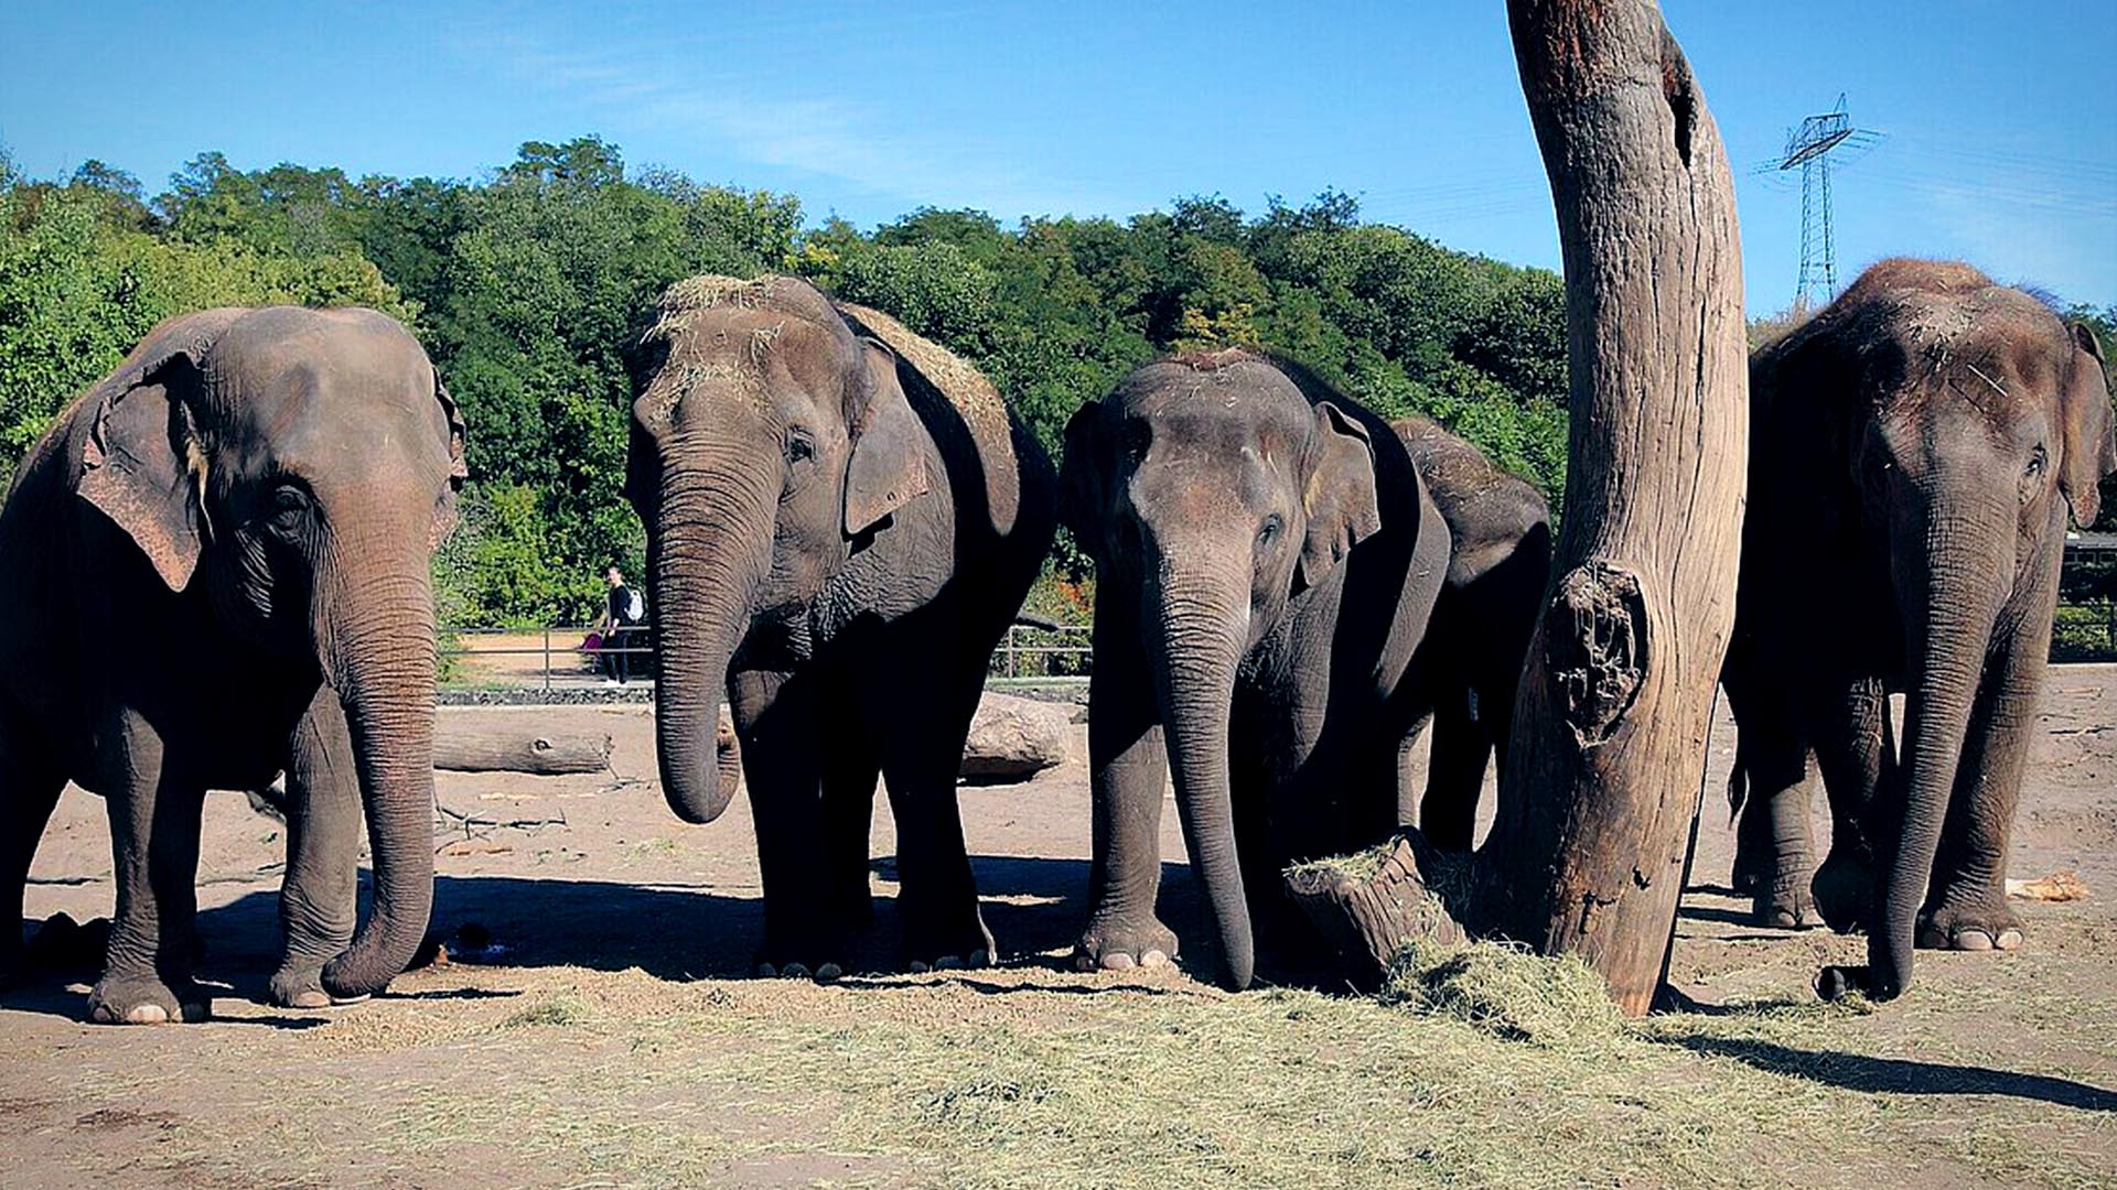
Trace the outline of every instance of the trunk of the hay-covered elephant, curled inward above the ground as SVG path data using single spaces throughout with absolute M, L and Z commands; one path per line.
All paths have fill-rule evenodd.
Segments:
M 735 781 L 724 773 L 720 701 L 771 567 L 771 493 L 739 479 L 671 472 L 648 540 L 654 620 L 654 743 L 663 796 L 684 822 L 713 822 Z

